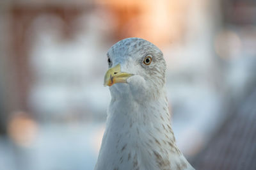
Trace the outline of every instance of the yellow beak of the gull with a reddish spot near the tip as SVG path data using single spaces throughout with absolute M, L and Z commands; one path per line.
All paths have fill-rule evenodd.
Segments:
M 133 74 L 121 72 L 120 64 L 109 68 L 104 77 L 104 86 L 112 86 L 115 83 L 125 83 Z

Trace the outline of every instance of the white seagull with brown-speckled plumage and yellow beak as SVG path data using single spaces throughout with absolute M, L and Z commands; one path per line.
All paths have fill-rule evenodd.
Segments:
M 156 45 L 125 38 L 108 50 L 106 130 L 95 170 L 194 169 L 175 143 L 166 62 Z

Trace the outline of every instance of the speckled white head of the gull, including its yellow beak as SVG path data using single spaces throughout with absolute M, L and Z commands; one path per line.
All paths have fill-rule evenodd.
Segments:
M 126 38 L 108 50 L 109 70 L 104 85 L 115 94 L 145 95 L 165 84 L 166 63 L 156 45 L 141 38 Z M 113 93 L 111 93 L 113 94 Z

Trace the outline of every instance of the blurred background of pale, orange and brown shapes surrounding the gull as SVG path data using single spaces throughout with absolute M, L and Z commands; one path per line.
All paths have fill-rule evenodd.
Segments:
M 177 145 L 196 169 L 256 169 L 255 0 L 1 0 L 0 169 L 93 169 L 106 52 L 163 50 Z

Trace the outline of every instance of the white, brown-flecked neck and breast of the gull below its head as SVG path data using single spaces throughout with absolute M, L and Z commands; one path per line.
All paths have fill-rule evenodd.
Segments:
M 147 102 L 111 101 L 97 164 L 98 169 L 108 169 L 106 165 L 119 169 L 189 167 L 175 144 L 164 93 Z

